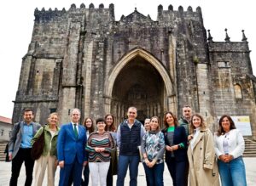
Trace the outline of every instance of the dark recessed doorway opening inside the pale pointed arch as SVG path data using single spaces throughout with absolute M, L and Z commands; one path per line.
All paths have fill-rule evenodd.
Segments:
M 130 106 L 137 107 L 137 119 L 160 116 L 163 111 L 164 83 L 146 59 L 137 56 L 119 72 L 112 93 L 111 109 L 119 110 L 121 120 Z M 123 111 L 122 111 L 123 108 Z

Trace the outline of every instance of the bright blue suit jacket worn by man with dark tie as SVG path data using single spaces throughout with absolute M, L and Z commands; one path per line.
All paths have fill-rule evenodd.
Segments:
M 85 153 L 86 140 L 85 127 L 79 125 L 79 137 L 76 138 L 71 122 L 62 125 L 57 140 L 58 161 L 72 164 L 76 157 L 80 164 L 87 161 Z

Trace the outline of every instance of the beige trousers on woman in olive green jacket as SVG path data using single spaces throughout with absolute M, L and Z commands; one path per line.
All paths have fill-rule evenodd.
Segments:
M 56 157 L 51 155 L 41 155 L 41 157 L 35 163 L 35 186 L 42 186 L 44 181 L 44 173 L 47 167 L 47 185 L 55 185 L 55 166 Z

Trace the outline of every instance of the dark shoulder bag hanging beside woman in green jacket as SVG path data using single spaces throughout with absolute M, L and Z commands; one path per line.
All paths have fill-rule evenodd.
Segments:
M 44 130 L 39 138 L 32 144 L 31 156 L 33 160 L 38 160 L 44 151 Z

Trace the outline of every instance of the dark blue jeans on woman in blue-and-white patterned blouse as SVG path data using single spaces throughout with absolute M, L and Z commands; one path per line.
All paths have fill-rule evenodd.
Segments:
M 147 186 L 163 186 L 164 185 L 164 168 L 165 164 L 155 164 L 152 168 L 149 168 L 146 166 L 145 163 L 143 163 L 146 177 L 148 178 Z

